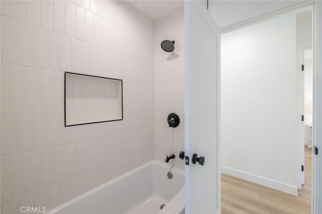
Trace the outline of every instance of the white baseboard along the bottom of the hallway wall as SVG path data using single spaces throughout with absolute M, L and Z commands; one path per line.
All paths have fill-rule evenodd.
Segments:
M 221 166 L 221 173 L 231 175 L 236 178 L 240 178 L 243 180 L 250 181 L 252 183 L 257 183 L 272 189 L 279 190 L 281 192 L 285 192 L 291 195 L 297 196 L 297 186 L 289 185 L 286 183 L 282 183 L 276 180 L 271 180 L 269 178 L 264 178 L 258 175 L 250 174 L 248 172 L 239 171 L 236 169 L 232 169 L 229 167 Z

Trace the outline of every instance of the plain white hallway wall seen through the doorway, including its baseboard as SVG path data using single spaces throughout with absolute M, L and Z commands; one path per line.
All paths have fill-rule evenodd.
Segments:
M 299 139 L 295 51 L 295 15 L 221 39 L 222 172 L 291 194 Z

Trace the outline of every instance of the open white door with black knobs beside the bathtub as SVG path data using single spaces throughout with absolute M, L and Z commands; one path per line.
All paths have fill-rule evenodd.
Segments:
M 185 1 L 186 213 L 220 213 L 220 31 L 204 2 Z

